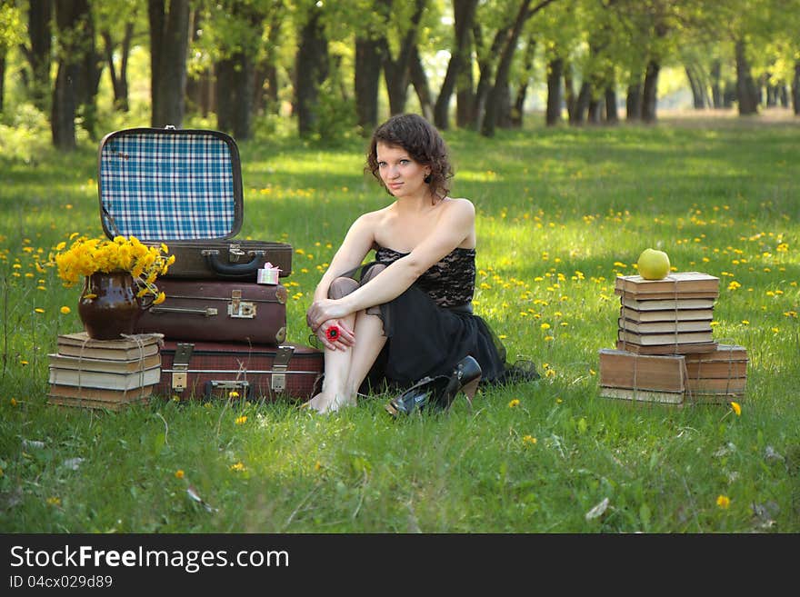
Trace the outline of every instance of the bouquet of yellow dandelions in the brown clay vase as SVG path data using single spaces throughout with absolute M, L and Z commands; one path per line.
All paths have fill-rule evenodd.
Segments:
M 131 274 L 139 291 L 136 298 L 147 296 L 152 304 L 163 303 L 165 294 L 158 291 L 155 279 L 167 273 L 175 263 L 165 244 L 158 246 L 142 244 L 135 236 L 115 236 L 114 239 L 70 236 L 72 245 L 64 250 L 66 243 L 55 247 L 58 276 L 66 287 L 71 287 L 92 274 L 127 272 Z M 88 297 L 85 297 L 88 298 Z

